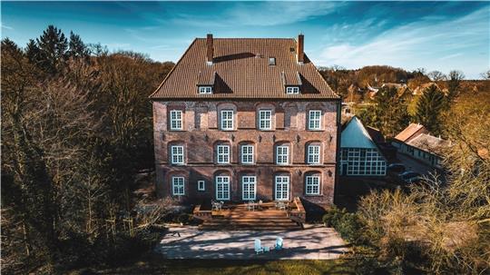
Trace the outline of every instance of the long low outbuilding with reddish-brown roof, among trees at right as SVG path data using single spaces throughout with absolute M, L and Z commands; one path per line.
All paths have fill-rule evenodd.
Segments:
M 406 129 L 397 134 L 392 144 L 397 147 L 398 152 L 432 167 L 441 168 L 441 156 L 449 142 L 430 135 L 421 124 L 410 123 Z

